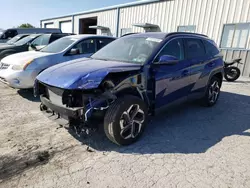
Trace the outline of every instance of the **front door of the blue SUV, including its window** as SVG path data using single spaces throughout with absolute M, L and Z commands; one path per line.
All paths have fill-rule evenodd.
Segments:
M 171 55 L 179 59 L 174 65 L 153 65 L 155 77 L 155 108 L 160 108 L 174 101 L 187 99 L 190 92 L 190 62 L 185 60 L 182 39 L 167 42 L 156 58 Z

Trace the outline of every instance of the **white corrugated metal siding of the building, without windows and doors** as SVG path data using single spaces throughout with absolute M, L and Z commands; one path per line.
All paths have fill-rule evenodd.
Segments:
M 110 28 L 110 35 L 116 36 L 117 9 L 74 16 L 74 32 L 79 33 L 81 18 L 98 17 L 98 25 Z M 69 20 L 69 18 L 52 19 L 43 22 Z M 223 25 L 229 23 L 250 22 L 250 0 L 166 0 L 150 4 L 120 8 L 119 33 L 121 29 L 130 28 L 132 32 L 144 32 L 135 27 L 136 23 L 151 23 L 159 26 L 159 31 L 175 32 L 178 26 L 195 25 L 197 33 L 203 33 L 214 39 L 219 45 Z M 101 31 L 98 30 L 98 34 Z M 250 49 L 250 37 L 247 41 Z M 225 59 L 240 56 L 244 65 L 241 67 L 244 76 L 250 74 L 250 55 L 247 50 L 222 50 Z M 233 55 L 231 55 L 233 54 Z

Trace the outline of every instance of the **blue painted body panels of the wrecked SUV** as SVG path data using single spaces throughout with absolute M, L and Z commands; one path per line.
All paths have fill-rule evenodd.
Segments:
M 149 106 L 152 105 L 150 108 L 153 107 L 157 109 L 178 99 L 188 98 L 188 96 L 192 94 L 204 95 L 211 76 L 215 73 L 221 75 L 223 73 L 224 63 L 222 56 L 218 54 L 210 55 L 206 52 L 205 55 L 199 58 L 187 58 L 185 38 L 211 42 L 211 40 L 204 35 L 187 33 L 141 33 L 128 35 L 124 38 L 130 37 L 152 37 L 161 39 L 162 41 L 155 47 L 144 65 L 84 58 L 53 66 L 41 73 L 37 79 L 42 83 L 54 87 L 70 90 L 85 90 L 98 88 L 100 83 L 105 80 L 106 76 L 110 73 L 122 73 L 126 71 L 131 74 L 125 78 L 119 77 L 119 74 L 116 74 L 114 78 L 114 81 L 119 80 L 119 83 L 117 83 L 119 88 L 123 88 L 124 85 L 126 85 L 126 87 L 131 88 L 137 87 L 141 94 L 145 91 L 143 95 L 145 95 L 149 101 Z M 183 42 L 182 48 L 185 53 L 183 57 L 181 57 L 182 60 L 171 65 L 164 64 L 164 62 L 155 63 L 154 60 L 161 49 L 168 44 L 168 42 L 177 38 Z M 138 75 L 141 76 L 140 79 L 142 80 L 140 86 L 137 85 L 139 80 Z M 115 90 L 114 93 L 115 92 L 118 92 L 118 90 Z

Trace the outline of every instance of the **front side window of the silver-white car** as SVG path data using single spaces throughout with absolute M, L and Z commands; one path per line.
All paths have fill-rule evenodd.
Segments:
M 87 39 L 76 44 L 73 49 L 78 49 L 79 54 L 92 54 L 96 52 L 96 40 Z

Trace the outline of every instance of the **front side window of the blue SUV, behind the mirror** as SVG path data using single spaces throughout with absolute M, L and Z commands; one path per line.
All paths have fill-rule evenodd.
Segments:
M 171 55 L 176 57 L 179 60 L 184 59 L 184 52 L 183 52 L 183 42 L 181 39 L 174 39 L 167 43 L 167 45 L 162 49 L 156 61 L 160 59 L 163 55 Z

